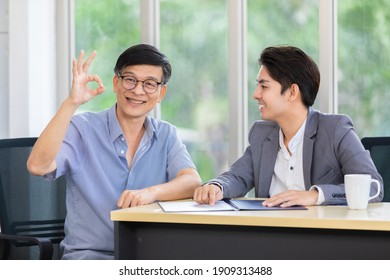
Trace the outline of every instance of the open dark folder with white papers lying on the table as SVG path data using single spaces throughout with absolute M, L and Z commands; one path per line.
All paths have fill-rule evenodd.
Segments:
M 195 201 L 164 201 L 158 204 L 164 212 L 307 210 L 303 206 L 267 207 L 262 202 L 263 200 L 257 199 L 224 199 L 217 201 L 215 205 L 198 204 Z

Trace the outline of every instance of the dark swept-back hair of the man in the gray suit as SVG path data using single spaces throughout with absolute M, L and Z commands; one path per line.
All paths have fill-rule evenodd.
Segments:
M 292 84 L 301 91 L 302 102 L 312 106 L 320 86 L 320 71 L 314 60 L 292 46 L 275 46 L 263 50 L 259 64 L 267 68 L 272 79 L 282 85 L 282 94 Z

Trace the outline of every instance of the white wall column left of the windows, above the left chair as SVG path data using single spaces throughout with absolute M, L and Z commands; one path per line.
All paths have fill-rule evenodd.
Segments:
M 57 105 L 55 0 L 12 0 L 8 5 L 9 121 L 6 136 L 38 136 L 53 117 Z

